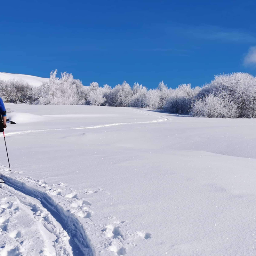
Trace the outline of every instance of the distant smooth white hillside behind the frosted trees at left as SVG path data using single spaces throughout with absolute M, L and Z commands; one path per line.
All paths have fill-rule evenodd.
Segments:
M 49 80 L 49 78 L 43 78 L 43 77 L 38 77 L 38 76 L 10 74 L 10 73 L 2 73 L 2 72 L 0 72 L 0 79 L 2 79 L 2 80 L 9 80 L 9 79 L 23 80 L 23 81 L 28 82 L 32 86 L 39 86 L 42 84 L 42 82 L 47 82 Z

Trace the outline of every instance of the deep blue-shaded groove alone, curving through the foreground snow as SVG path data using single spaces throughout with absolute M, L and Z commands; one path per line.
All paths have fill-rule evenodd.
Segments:
M 93 255 L 92 249 L 90 248 L 90 245 L 88 243 L 85 231 L 82 228 L 81 224 L 79 223 L 79 220 L 77 220 L 73 214 L 71 214 L 68 211 L 65 211 L 59 204 L 56 204 L 52 200 L 52 198 L 49 195 L 47 195 L 45 192 L 39 189 L 29 187 L 24 182 L 20 182 L 19 180 L 12 179 L 11 177 L 5 176 L 3 174 L 1 176 L 4 179 L 6 185 L 27 196 L 36 198 L 41 202 L 44 208 L 46 208 L 47 211 L 50 212 L 53 217 L 55 217 L 55 220 L 57 220 L 61 224 L 62 228 L 68 233 L 70 237 L 69 243 L 73 249 L 74 256 L 78 256 L 78 255 L 92 256 Z M 11 192 L 10 189 L 6 188 L 6 185 L 5 186 L 2 185 L 2 188 L 5 188 L 9 192 Z M 30 203 L 30 206 L 31 206 L 31 203 Z M 70 254 L 63 254 L 63 255 L 70 255 Z

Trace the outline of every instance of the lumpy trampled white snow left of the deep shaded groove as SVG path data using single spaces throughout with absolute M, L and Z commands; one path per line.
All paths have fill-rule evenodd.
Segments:
M 4 211 L 1 215 L 6 216 L 6 218 L 3 218 L 3 221 L 0 221 L 2 222 L 2 231 L 9 231 L 10 238 L 14 238 L 11 243 L 10 241 L 4 243 L 3 250 L 0 250 L 1 255 L 29 255 L 31 253 L 29 250 L 31 249 L 33 251 L 33 246 L 36 244 L 42 247 L 37 248 L 37 250 L 41 249 L 39 252 L 41 255 L 73 256 L 72 249 L 68 242 L 69 236 L 67 232 L 61 228 L 60 224 L 52 217 L 50 212 L 42 205 L 33 202 L 28 196 L 25 196 L 23 193 L 16 191 L 6 184 L 0 184 L 0 188 L 7 192 L 5 193 L 7 197 L 2 198 L 2 202 L 5 202 L 5 204 L 1 204 L 0 206 L 1 208 L 4 206 Z M 22 214 L 18 214 L 19 212 Z M 7 219 L 8 216 L 9 218 Z M 24 225 L 20 225 L 21 221 Z M 35 244 L 32 244 L 32 248 L 26 244 L 27 241 L 24 241 L 26 239 L 33 239 L 33 237 L 28 238 L 26 234 L 31 232 L 31 229 L 29 230 L 29 228 L 25 226 L 26 224 L 28 225 L 28 223 L 26 223 L 28 221 L 30 223 L 34 221 L 34 224 L 36 222 L 36 235 L 38 236 L 36 239 L 42 240 L 42 244 L 38 244 L 38 241 L 33 241 Z M 18 223 L 15 225 L 15 229 L 8 227 L 10 222 Z M 25 233 L 25 236 L 23 236 L 23 233 Z M 33 235 L 35 234 L 33 233 Z

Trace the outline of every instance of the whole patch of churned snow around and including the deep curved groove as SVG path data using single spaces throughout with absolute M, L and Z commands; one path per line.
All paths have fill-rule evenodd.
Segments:
M 114 216 L 106 216 L 102 223 L 94 223 L 92 204 L 86 198 L 80 198 L 79 192 L 72 190 L 67 184 L 50 186 L 44 180 L 33 180 L 17 172 L 10 172 L 6 166 L 0 166 L 0 170 L 0 176 L 5 181 L 0 183 L 0 188 L 9 195 L 2 202 L 0 193 L 0 209 L 4 209 L 2 212 L 0 210 L 1 256 L 25 256 L 29 255 L 26 253 L 29 249 L 33 251 L 34 244 L 28 243 L 29 239 L 23 237 L 23 229 L 27 227 L 8 228 L 9 221 L 15 220 L 19 223 L 17 211 L 26 211 L 30 222 L 31 219 L 39 222 L 37 234 L 43 241 L 38 245 L 42 246 L 38 248 L 40 253 L 32 252 L 35 256 L 122 256 L 129 254 L 129 249 L 135 247 L 137 242 L 151 238 L 151 234 L 143 230 L 123 231 L 122 227 L 129 225 L 125 220 L 120 221 Z M 81 194 L 98 193 L 101 190 L 85 189 Z M 18 203 L 14 203 L 14 197 Z M 88 228 L 91 231 L 91 240 L 86 234 Z M 4 240 L 2 236 L 11 238 Z M 50 236 L 52 240 L 49 239 Z M 10 239 L 13 241 L 10 242 Z

